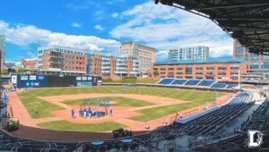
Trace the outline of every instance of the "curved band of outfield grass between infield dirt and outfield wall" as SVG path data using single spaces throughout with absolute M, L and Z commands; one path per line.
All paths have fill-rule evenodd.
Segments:
M 102 94 L 136 94 L 136 95 L 152 95 L 158 97 L 169 97 L 179 100 L 194 101 L 209 97 L 213 97 L 211 91 L 184 90 L 184 89 L 161 89 L 161 88 L 142 88 L 142 87 L 88 87 L 88 88 L 58 88 L 58 89 L 32 89 L 30 90 L 36 97 L 48 97 L 58 95 L 75 95 L 87 93 Z M 216 97 L 220 97 L 222 93 L 216 92 Z

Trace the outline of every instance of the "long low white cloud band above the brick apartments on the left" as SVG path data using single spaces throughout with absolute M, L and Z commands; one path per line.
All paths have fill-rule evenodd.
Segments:
M 11 26 L 5 21 L 0 21 L 0 33 L 6 37 L 6 41 L 17 46 L 75 46 L 87 50 L 111 50 L 117 51 L 119 42 L 113 39 L 103 39 L 94 36 L 75 36 L 65 33 L 42 30 L 32 25 Z

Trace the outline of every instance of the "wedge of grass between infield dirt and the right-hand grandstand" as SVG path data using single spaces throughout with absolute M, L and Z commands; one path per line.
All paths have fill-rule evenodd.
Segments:
M 195 106 L 201 106 L 206 103 L 205 101 L 206 100 L 192 101 L 190 103 L 178 104 L 174 106 L 159 106 L 138 110 L 137 112 L 143 115 L 134 116 L 130 119 L 139 122 L 148 122 L 169 114 L 176 114 L 177 112 L 184 111 Z

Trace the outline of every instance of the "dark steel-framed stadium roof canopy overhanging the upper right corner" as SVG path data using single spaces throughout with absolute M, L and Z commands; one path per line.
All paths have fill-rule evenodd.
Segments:
M 250 52 L 269 55 L 269 0 L 155 0 L 211 19 Z

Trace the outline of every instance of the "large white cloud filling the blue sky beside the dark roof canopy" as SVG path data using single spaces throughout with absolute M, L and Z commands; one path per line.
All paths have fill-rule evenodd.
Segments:
M 151 9 L 152 13 L 149 13 Z M 110 35 L 132 38 L 162 50 L 157 56 L 166 55 L 165 50 L 174 47 L 199 45 L 210 46 L 211 57 L 232 54 L 232 38 L 213 21 L 193 13 L 163 4 L 145 3 L 126 10 L 120 16 L 130 20 L 111 30 Z

